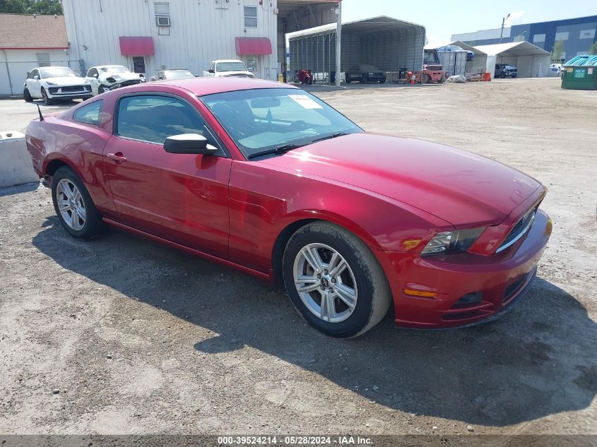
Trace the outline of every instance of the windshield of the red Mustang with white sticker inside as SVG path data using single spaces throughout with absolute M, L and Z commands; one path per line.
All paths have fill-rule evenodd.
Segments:
M 239 90 L 200 99 L 247 158 L 362 132 L 325 102 L 295 88 Z

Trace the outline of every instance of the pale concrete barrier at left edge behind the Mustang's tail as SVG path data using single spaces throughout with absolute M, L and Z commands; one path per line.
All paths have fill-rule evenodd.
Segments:
M 0 187 L 40 181 L 20 132 L 0 132 Z

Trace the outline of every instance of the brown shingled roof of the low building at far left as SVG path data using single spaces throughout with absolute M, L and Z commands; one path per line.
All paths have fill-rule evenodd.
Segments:
M 0 49 L 68 47 L 64 16 L 0 14 Z

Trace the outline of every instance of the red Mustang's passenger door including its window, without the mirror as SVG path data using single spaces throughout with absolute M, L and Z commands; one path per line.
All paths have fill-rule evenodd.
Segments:
M 205 119 L 187 100 L 161 93 L 123 95 L 114 112 L 104 164 L 118 219 L 227 257 L 231 160 Z M 180 133 L 202 134 L 218 153 L 166 153 L 165 138 Z

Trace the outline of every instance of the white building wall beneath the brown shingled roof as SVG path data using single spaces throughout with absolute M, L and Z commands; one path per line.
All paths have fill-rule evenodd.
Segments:
M 23 95 L 27 72 L 39 66 L 37 53 L 49 54 L 49 63 L 70 66 L 79 73 L 78 58 L 64 49 L 0 49 L 0 95 Z

